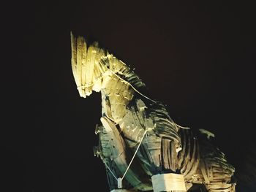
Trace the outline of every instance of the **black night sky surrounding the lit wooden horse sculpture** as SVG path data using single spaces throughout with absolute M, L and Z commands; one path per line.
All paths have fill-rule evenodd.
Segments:
M 1 20 L 4 191 L 108 191 L 92 150 L 100 95 L 78 94 L 70 31 L 135 68 L 176 123 L 214 132 L 236 171 L 255 175 L 252 4 L 10 2 Z

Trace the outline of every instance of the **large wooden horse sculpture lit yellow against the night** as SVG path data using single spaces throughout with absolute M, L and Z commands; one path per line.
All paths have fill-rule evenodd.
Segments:
M 165 105 L 141 93 L 138 75 L 97 42 L 87 47 L 71 34 L 71 45 L 80 96 L 102 95 L 94 154 L 105 164 L 110 191 L 235 191 L 234 168 L 210 132 L 174 123 Z

